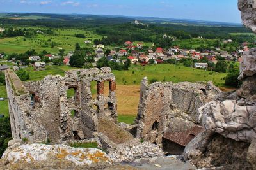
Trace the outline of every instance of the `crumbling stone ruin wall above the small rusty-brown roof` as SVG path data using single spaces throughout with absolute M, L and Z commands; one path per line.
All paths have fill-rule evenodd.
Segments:
M 186 131 L 198 124 L 197 108 L 214 99 L 220 89 L 209 83 L 141 81 L 137 137 L 162 143 L 165 132 Z

